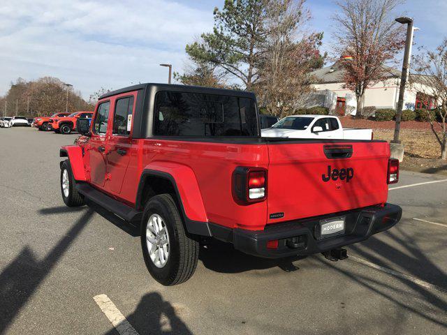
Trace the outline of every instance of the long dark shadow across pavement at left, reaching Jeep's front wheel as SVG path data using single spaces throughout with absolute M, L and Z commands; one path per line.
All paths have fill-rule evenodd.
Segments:
M 85 207 L 84 207 L 85 208 Z M 76 208 L 74 211 L 79 211 Z M 41 209 L 41 213 L 54 214 L 69 211 L 68 207 Z M 31 295 L 42 281 L 50 274 L 57 262 L 85 228 L 93 211 L 87 209 L 85 214 L 75 222 L 64 237 L 59 239 L 43 260 L 37 260 L 32 249 L 25 246 L 19 255 L 9 263 L 0 274 L 0 334 L 4 334 Z

